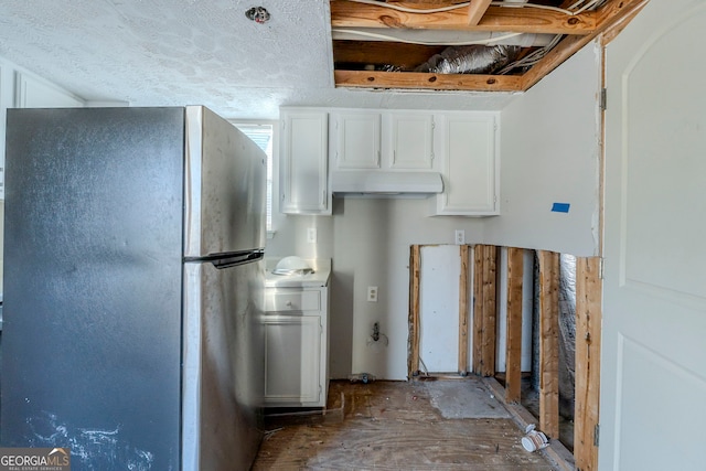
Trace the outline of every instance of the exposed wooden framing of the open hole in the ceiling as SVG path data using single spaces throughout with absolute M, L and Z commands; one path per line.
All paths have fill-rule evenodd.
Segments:
M 459 31 L 461 32 L 459 34 L 470 31 L 494 34 L 504 32 L 506 35 L 518 33 L 524 36 L 541 33 L 552 34 L 556 36 L 556 41 L 545 47 L 525 45 L 514 47 L 512 52 L 516 54 L 515 58 L 520 60 L 516 63 L 522 66 L 510 68 L 510 71 L 505 67 L 501 74 L 466 71 L 437 73 L 434 69 L 432 72 L 420 69 L 420 63 L 424 62 L 425 56 L 438 55 L 442 43 L 411 46 L 392 41 L 371 49 L 368 46 L 371 41 L 351 41 L 350 34 L 345 35 L 345 41 L 336 40 L 334 35 L 336 86 L 478 92 L 526 90 L 597 36 L 610 33 L 612 29 L 623 28 L 623 23 L 630 21 L 649 0 L 606 0 L 599 3 L 600 7 L 593 7 L 593 10 L 574 10 L 573 12 L 563 12 L 559 9 L 574 8 L 577 4 L 576 0 L 530 0 L 532 6 L 525 8 L 507 8 L 501 7 L 495 1 L 472 0 L 470 3 L 464 3 L 462 8 L 427 13 L 416 13 L 410 10 L 430 8 L 442 10 L 439 7 L 450 7 L 453 3 L 443 0 L 420 0 L 414 3 L 411 1 L 387 0 L 381 4 L 371 4 L 353 0 L 330 0 L 332 30 L 340 34 L 341 31 L 372 32 L 387 29 L 391 31 L 389 35 L 393 35 L 392 32 L 396 30 L 425 30 L 431 34 L 434 31 Z M 590 3 L 590 0 L 584 2 L 589 7 Z M 386 8 L 385 4 L 402 7 L 405 11 Z M 596 2 L 592 4 L 595 6 Z M 483 43 L 494 44 L 493 41 Z M 367 62 L 363 53 L 365 50 L 371 52 L 374 50 L 374 53 L 367 56 Z M 523 62 L 523 57 L 531 60 Z M 511 67 L 513 64 L 511 62 Z

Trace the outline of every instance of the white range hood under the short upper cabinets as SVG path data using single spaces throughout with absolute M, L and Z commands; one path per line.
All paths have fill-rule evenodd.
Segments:
M 443 191 L 438 172 L 335 171 L 331 190 L 338 195 L 428 196 Z

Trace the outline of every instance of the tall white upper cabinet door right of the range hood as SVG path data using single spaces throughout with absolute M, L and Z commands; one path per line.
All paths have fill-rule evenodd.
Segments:
M 495 122 L 496 116 L 489 114 L 443 116 L 443 193 L 437 195 L 436 214 L 500 214 Z

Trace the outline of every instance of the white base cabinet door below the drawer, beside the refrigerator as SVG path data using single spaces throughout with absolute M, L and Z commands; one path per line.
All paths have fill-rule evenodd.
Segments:
M 265 404 L 321 405 L 321 315 L 265 317 Z

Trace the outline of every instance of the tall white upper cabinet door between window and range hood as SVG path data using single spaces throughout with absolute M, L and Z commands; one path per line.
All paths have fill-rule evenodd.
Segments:
M 280 211 L 331 214 L 328 114 L 281 110 Z

